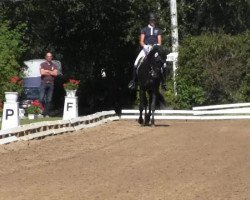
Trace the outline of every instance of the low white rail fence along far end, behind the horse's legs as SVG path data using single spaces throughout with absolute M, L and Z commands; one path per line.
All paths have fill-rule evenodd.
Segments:
M 121 119 L 138 119 L 139 110 L 122 110 Z M 250 103 L 193 107 L 192 110 L 156 110 L 155 119 L 225 120 L 250 119 Z

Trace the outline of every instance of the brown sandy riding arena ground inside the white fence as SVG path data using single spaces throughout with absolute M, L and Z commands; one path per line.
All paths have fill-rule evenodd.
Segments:
M 0 199 L 247 200 L 249 120 L 120 120 L 0 145 Z

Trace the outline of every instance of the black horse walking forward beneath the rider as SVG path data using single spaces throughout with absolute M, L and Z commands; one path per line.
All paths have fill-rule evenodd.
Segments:
M 165 104 L 159 91 L 163 78 L 163 65 L 166 63 L 166 52 L 159 45 L 154 45 L 149 54 L 144 58 L 137 69 L 138 85 L 140 92 L 140 116 L 138 122 L 143 125 L 154 125 L 154 112 L 156 102 Z M 148 112 L 147 112 L 148 109 Z M 142 112 L 145 111 L 144 121 Z

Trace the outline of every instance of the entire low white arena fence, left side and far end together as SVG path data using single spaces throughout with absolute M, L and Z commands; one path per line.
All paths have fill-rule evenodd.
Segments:
M 102 111 L 71 120 L 44 121 L 0 131 L 0 144 L 43 138 L 73 132 L 119 119 L 137 119 L 139 110 Z M 155 119 L 167 120 L 226 120 L 250 119 L 250 103 L 193 107 L 192 110 L 156 110 Z

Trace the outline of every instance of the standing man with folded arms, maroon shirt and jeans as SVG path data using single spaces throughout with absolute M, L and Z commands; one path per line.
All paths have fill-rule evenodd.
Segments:
M 40 102 L 44 106 L 43 116 L 48 116 L 51 109 L 51 101 L 54 90 L 54 80 L 58 75 L 58 67 L 52 62 L 53 55 L 48 52 L 45 56 L 46 61 L 40 66 L 41 86 Z

